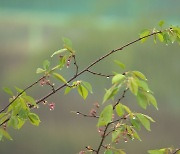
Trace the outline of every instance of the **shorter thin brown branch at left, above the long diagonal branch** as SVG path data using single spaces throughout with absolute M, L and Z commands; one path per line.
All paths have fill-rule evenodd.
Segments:
M 42 79 L 46 78 L 46 76 L 42 76 L 40 79 L 38 79 L 36 82 L 32 83 L 31 85 L 29 85 L 28 87 L 26 87 L 22 92 L 20 92 L 7 106 L 5 106 L 0 113 L 4 112 L 12 103 L 15 102 L 15 100 L 22 95 L 25 91 L 27 91 L 28 89 L 32 88 L 34 85 L 36 85 L 37 83 L 39 83 L 39 81 L 41 81 Z

